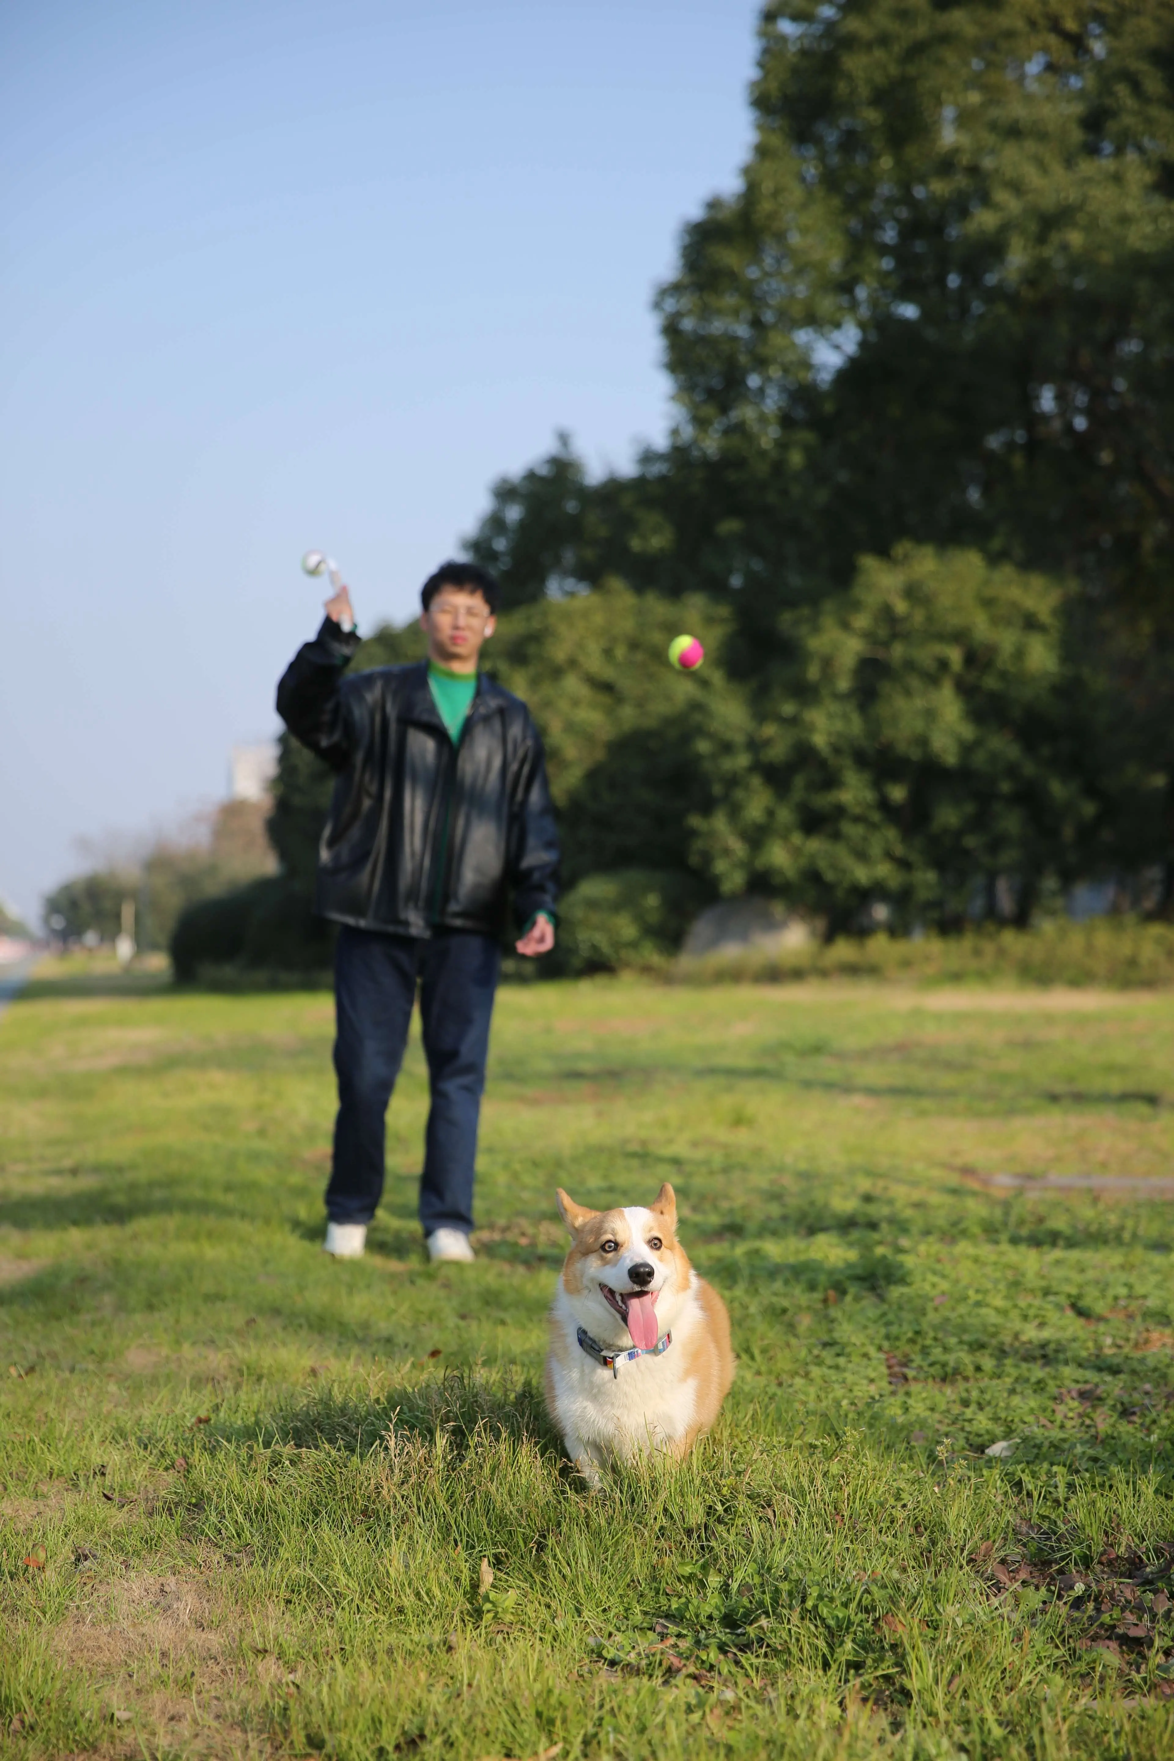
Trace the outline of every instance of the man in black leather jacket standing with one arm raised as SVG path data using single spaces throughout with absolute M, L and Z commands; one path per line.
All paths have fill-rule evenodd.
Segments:
M 345 678 L 350 593 L 278 685 L 289 731 L 338 773 L 317 909 L 334 962 L 338 1118 L 326 1250 L 356 1259 L 384 1190 L 384 1120 L 421 986 L 431 1109 L 419 1215 L 431 1259 L 472 1259 L 477 1118 L 510 893 L 519 954 L 554 946 L 558 831 L 521 699 L 477 671 L 498 583 L 447 562 L 424 583 L 428 660 Z

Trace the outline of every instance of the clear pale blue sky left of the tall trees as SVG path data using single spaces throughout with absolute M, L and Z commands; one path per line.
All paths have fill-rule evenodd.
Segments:
M 331 551 L 403 622 L 489 486 L 671 421 L 651 296 L 750 148 L 748 0 L 9 0 L 0 895 L 271 738 Z

